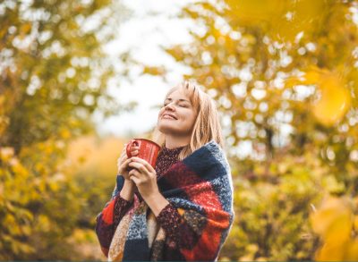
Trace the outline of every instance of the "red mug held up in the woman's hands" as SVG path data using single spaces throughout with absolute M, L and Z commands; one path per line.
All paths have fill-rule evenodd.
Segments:
M 160 146 L 149 139 L 132 139 L 126 147 L 127 156 L 132 157 L 132 147 L 139 147 L 137 157 L 146 160 L 151 166 L 155 167 Z

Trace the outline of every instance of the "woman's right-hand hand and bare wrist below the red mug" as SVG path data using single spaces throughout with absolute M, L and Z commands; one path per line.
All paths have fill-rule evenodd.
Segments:
M 163 197 L 158 189 L 157 172 L 145 160 L 140 157 L 131 157 L 129 166 L 133 169 L 129 172 L 129 178 L 137 186 L 141 197 L 146 201 L 154 216 L 158 216 L 169 202 Z

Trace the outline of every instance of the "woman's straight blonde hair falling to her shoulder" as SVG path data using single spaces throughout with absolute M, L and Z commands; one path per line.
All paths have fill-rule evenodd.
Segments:
M 217 106 L 215 105 L 214 100 L 195 84 L 186 80 L 170 89 L 167 92 L 166 97 L 178 89 L 183 90 L 184 94 L 189 97 L 192 106 L 197 113 L 196 121 L 192 128 L 190 143 L 183 148 L 182 152 L 179 154 L 179 159 L 182 160 L 185 156 L 192 154 L 193 151 L 211 140 L 216 141 L 221 148 L 224 148 L 224 139 L 217 114 Z M 158 127 L 156 127 L 154 131 L 153 139 L 162 147 L 166 143 L 165 135 L 158 131 Z

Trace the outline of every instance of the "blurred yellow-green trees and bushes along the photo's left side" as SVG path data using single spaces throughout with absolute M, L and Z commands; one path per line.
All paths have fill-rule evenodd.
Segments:
M 107 89 L 121 72 L 104 45 L 126 13 L 110 0 L 1 1 L 1 260 L 81 258 L 66 238 L 86 189 L 62 160 L 70 139 L 93 131 L 95 110 L 124 109 Z

